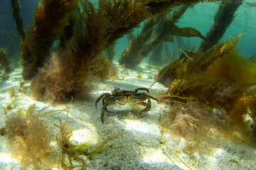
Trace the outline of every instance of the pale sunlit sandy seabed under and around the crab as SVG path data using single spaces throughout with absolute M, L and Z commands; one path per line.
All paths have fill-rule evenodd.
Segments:
M 100 95 L 111 93 L 114 87 L 129 91 L 149 88 L 154 82 L 156 69 L 146 69 L 146 65 L 140 67 L 139 71 L 120 67 L 119 79 L 100 81 L 97 89 L 90 94 L 90 100 L 74 100 L 70 104 L 68 125 L 73 130 L 71 142 L 96 144 L 102 137 L 118 136 L 116 140 L 110 141 L 117 145 L 112 145 L 104 152 L 93 155 L 91 160 L 80 156 L 85 160 L 87 169 L 256 169 L 255 147 L 243 142 L 216 139 L 215 147 L 210 152 L 188 154 L 188 152 L 183 152 L 187 141 L 171 135 L 171 132 L 166 132 L 162 140 L 174 151 L 171 152 L 159 142 L 161 136 L 159 113 L 168 108 L 154 100 L 151 100 L 151 110 L 142 115 L 136 115 L 138 109 L 134 110 L 129 104 L 108 106 L 108 110 L 113 113 L 105 113 L 105 123 L 102 124 L 101 101 L 97 104 L 97 111 L 95 109 L 95 101 Z M 0 81 L 1 127 L 4 127 L 6 118 L 17 108 L 26 109 L 31 104 L 35 104 L 36 110 L 40 110 L 50 104 L 33 100 L 28 89 L 26 94 L 17 94 L 18 100 L 12 111 L 4 111 L 4 108 L 14 101 L 8 91 L 11 88 L 20 89 L 20 82 L 23 81 L 21 71 L 22 68 L 19 67 L 8 74 L 9 79 Z M 141 76 L 140 79 L 137 78 L 138 75 Z M 163 85 L 156 83 L 150 89 L 149 94 L 159 94 L 166 90 Z M 65 106 L 49 106 L 46 111 L 62 110 Z M 139 107 L 140 110 L 144 106 Z M 53 135 L 58 135 L 58 128 L 53 125 L 60 124 L 58 116 L 61 120 L 65 120 L 66 115 L 67 113 L 63 111 L 58 115 L 46 117 L 48 125 L 53 129 Z M 11 148 L 9 148 L 6 135 L 0 136 L 0 139 L 0 169 L 20 169 L 18 161 L 11 157 Z M 121 148 L 115 148 L 119 146 Z

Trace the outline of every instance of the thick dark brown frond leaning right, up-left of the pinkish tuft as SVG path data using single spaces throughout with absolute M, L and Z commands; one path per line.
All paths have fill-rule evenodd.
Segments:
M 78 0 L 44 0 L 36 8 L 35 18 L 21 44 L 23 79 L 32 79 L 46 62 L 53 41 L 68 23 Z

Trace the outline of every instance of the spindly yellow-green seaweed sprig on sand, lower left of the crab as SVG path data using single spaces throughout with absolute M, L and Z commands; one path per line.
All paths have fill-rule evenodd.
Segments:
M 81 167 L 81 169 L 85 169 L 85 160 L 80 158 L 80 155 L 85 155 L 88 159 L 92 159 L 92 157 L 97 153 L 107 152 L 111 149 L 122 149 L 125 147 L 132 147 L 131 142 L 129 142 L 125 137 L 122 137 L 121 135 L 107 135 L 107 133 L 111 132 L 111 130 L 107 130 L 106 132 L 104 132 L 96 143 L 82 142 L 81 144 L 74 144 L 74 142 L 70 142 L 70 137 L 73 135 L 73 132 L 68 126 L 68 109 L 72 101 L 73 98 L 71 99 L 70 103 L 66 108 L 67 117 L 65 119 L 65 122 L 62 123 L 62 121 L 58 117 L 60 125 L 54 124 L 55 127 L 59 129 L 59 135 L 58 137 L 56 137 L 56 140 L 58 143 L 58 147 L 60 147 L 61 149 L 60 162 L 63 168 L 75 169 L 77 167 Z M 119 139 L 123 139 L 123 141 L 114 142 L 114 140 Z M 128 143 L 128 145 L 124 145 L 124 143 Z M 74 166 L 73 159 L 81 162 L 82 164 Z M 66 165 L 67 161 L 69 163 L 69 166 Z

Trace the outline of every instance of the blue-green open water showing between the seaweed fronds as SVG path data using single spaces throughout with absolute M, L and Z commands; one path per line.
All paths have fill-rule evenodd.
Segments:
M 23 23 L 25 29 L 28 28 L 29 24 L 33 21 L 33 15 L 36 7 L 38 6 L 38 0 L 35 1 L 21 1 L 21 15 L 23 16 Z M 96 1 L 92 1 L 96 4 Z M 253 1 L 248 1 L 252 2 Z M 0 17 L 1 17 L 1 47 L 8 47 L 10 50 L 10 56 L 14 55 L 13 52 L 18 52 L 19 41 L 18 35 L 16 33 L 14 19 L 11 18 L 11 8 L 9 5 L 9 1 L 1 1 L 0 2 Z M 214 23 L 214 15 L 215 11 L 218 8 L 218 4 L 215 3 L 201 3 L 196 4 L 193 8 L 188 8 L 186 13 L 184 13 L 183 17 L 178 21 L 177 25 L 180 27 L 192 27 L 196 28 L 201 32 L 202 35 L 206 35 L 210 26 Z M 239 52 L 241 55 L 245 57 L 252 57 L 255 55 L 255 45 L 256 45 L 256 34 L 255 34 L 255 23 L 256 18 L 255 6 L 248 6 L 243 3 L 236 12 L 236 16 L 234 21 L 228 27 L 223 38 L 220 41 L 226 40 L 230 36 L 238 35 L 240 33 L 245 32 L 244 35 L 240 38 L 238 42 Z M 139 31 L 140 29 L 134 30 Z M 15 39 L 16 38 L 16 39 Z M 192 50 L 193 47 L 198 48 L 201 43 L 200 38 L 183 38 L 184 41 L 187 42 L 187 46 L 184 50 Z M 188 40 L 186 40 L 188 39 Z M 7 40 L 7 41 L 6 41 Z M 10 41 L 12 40 L 11 43 Z M 167 42 L 166 42 L 167 43 Z M 15 48 L 14 50 L 11 50 Z M 122 51 L 124 48 L 128 47 L 127 38 L 120 38 L 117 41 L 117 45 L 115 47 L 116 55 L 115 58 L 118 60 L 119 56 L 122 55 Z M 176 42 L 170 43 L 169 48 L 171 50 L 175 50 L 178 46 Z

